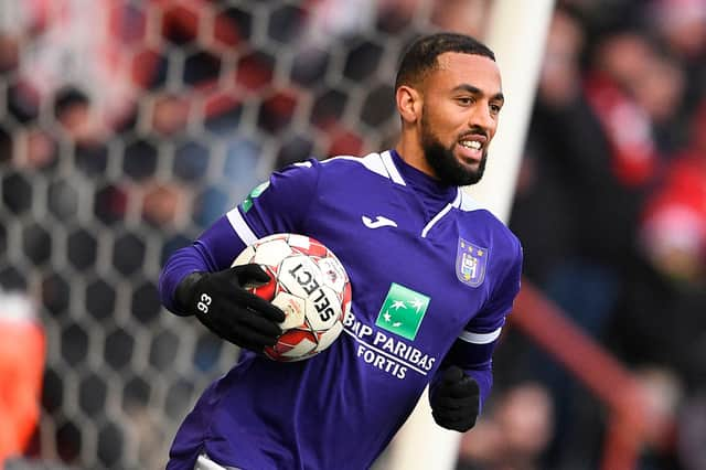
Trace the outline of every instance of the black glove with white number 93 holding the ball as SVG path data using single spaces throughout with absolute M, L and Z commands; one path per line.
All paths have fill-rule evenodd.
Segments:
M 222 339 L 263 352 L 282 333 L 277 323 L 285 320 L 285 313 L 243 286 L 269 280 L 269 275 L 256 264 L 218 273 L 193 273 L 180 282 L 176 302 Z

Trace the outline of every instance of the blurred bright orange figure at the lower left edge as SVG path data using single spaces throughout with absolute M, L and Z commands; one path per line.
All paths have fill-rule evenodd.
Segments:
M 18 292 L 0 292 L 0 469 L 21 456 L 39 423 L 44 331 L 35 307 Z

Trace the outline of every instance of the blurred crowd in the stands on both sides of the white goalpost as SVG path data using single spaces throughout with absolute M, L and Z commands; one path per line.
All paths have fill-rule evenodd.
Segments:
M 49 351 L 24 453 L 159 467 L 237 353 L 162 312 L 165 256 L 270 170 L 394 141 L 402 49 L 492 0 L 90 4 L 0 3 L 0 287 Z M 706 0 L 557 1 L 510 225 L 664 416 L 641 468 L 706 468 Z M 597 468 L 602 405 L 506 330 L 459 468 Z

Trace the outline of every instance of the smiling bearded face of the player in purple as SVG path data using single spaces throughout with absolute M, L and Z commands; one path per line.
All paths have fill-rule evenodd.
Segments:
M 447 52 L 424 84 L 419 139 L 425 159 L 449 185 L 480 181 L 503 105 L 500 71 L 481 55 Z

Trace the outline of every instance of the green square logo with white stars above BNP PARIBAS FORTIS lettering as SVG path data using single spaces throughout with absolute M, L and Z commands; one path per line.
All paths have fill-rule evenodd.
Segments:
M 417 337 L 429 297 L 393 282 L 383 307 L 379 309 L 375 324 L 408 340 Z

